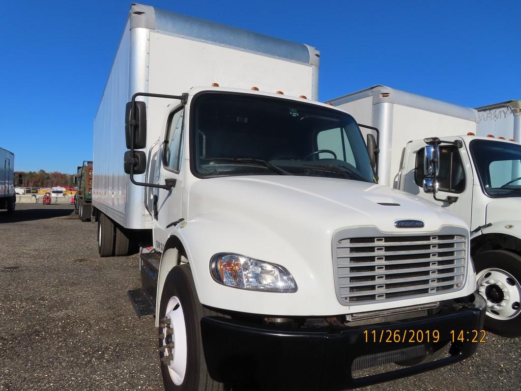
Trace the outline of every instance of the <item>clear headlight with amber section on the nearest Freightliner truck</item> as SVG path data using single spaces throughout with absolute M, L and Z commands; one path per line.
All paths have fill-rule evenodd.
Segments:
M 215 254 L 210 272 L 222 285 L 266 292 L 296 292 L 295 280 L 282 266 L 238 254 Z

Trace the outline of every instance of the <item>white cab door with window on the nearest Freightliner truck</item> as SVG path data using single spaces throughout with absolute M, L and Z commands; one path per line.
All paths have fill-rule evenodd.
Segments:
M 171 184 L 171 189 L 153 188 L 147 203 L 151 204 L 154 219 L 154 247 L 163 251 L 173 223 L 181 217 L 182 189 L 184 178 L 181 173 L 183 164 L 182 145 L 184 140 L 184 106 L 179 105 L 170 113 L 167 120 L 165 139 L 157 146 L 157 164 L 154 182 Z M 187 163 L 188 164 L 188 163 Z

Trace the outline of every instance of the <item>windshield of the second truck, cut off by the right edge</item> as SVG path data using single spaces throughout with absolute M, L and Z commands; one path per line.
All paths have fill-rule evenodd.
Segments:
M 473 140 L 470 153 L 489 197 L 521 197 L 521 145 Z

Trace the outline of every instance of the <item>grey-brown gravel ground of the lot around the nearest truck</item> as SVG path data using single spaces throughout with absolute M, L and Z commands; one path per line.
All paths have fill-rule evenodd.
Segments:
M 0 211 L 0 390 L 160 390 L 152 317 L 138 319 L 137 255 L 101 259 L 70 205 Z M 521 389 L 521 339 L 487 335 L 472 358 L 364 390 Z

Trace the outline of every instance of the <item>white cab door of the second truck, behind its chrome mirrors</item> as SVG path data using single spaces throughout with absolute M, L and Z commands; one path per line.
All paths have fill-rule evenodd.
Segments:
M 458 137 L 444 137 L 443 140 L 461 140 Z M 448 197 L 457 197 L 457 200 L 438 201 L 432 193 L 423 190 L 424 179 L 424 147 L 427 144 L 423 140 L 411 141 L 406 148 L 406 166 L 400 178 L 400 190 L 434 202 L 445 210 L 464 219 L 470 226 L 472 216 L 472 192 L 473 172 L 469 154 L 465 143 L 461 148 L 453 144 L 440 144 L 439 175 L 437 176 L 438 191 L 436 198 L 448 200 Z

